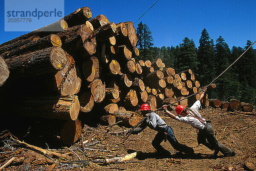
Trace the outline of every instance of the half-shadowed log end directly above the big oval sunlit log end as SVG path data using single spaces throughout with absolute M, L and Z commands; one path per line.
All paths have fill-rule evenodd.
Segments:
M 98 58 L 92 56 L 89 59 L 83 61 L 83 73 L 84 73 L 84 78 L 92 82 L 94 79 L 99 78 L 99 60 Z

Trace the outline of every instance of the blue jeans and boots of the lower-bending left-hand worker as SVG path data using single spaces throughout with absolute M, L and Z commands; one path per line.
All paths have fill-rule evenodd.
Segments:
M 186 154 L 193 154 L 194 150 L 193 148 L 190 148 L 186 145 L 180 144 L 177 139 L 175 138 L 175 135 L 173 133 L 173 130 L 171 127 L 167 126 L 166 127 L 166 134 L 167 134 L 167 140 L 170 142 L 170 144 L 172 145 L 172 147 L 180 152 L 186 153 Z M 162 145 L 160 145 L 160 143 L 164 140 L 164 132 L 158 132 L 157 135 L 154 137 L 153 141 L 152 141 L 152 145 L 153 147 L 162 153 L 168 152 L 166 149 L 163 148 Z

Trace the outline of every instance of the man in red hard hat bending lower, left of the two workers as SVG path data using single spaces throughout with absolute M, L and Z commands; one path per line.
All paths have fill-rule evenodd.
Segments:
M 170 154 L 169 151 L 167 151 L 163 148 L 162 145 L 160 145 L 160 143 L 166 138 L 175 150 L 186 154 L 194 154 L 193 148 L 180 144 L 177 141 L 172 128 L 169 127 L 166 122 L 164 122 L 163 119 L 160 118 L 160 116 L 158 116 L 154 112 L 151 112 L 150 106 L 148 104 L 142 104 L 140 107 L 140 111 L 141 114 L 147 118 L 137 128 L 134 129 L 133 134 L 140 133 L 148 126 L 149 128 L 158 132 L 152 141 L 152 145 L 157 150 L 157 152 L 163 154 Z

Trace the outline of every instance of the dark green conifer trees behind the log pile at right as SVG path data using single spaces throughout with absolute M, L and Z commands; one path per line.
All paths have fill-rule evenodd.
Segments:
M 161 58 L 166 67 L 176 72 L 191 69 L 201 86 L 208 85 L 214 78 L 230 66 L 251 44 L 247 40 L 244 47 L 231 49 L 224 38 L 219 36 L 214 42 L 206 29 L 201 32 L 198 48 L 193 39 L 184 38 L 182 43 L 171 47 L 153 47 L 153 36 L 149 27 L 140 22 L 137 27 L 137 60 L 154 61 Z M 215 81 L 216 89 L 209 92 L 209 98 L 229 101 L 238 99 L 256 105 L 256 57 L 251 47 L 229 70 Z

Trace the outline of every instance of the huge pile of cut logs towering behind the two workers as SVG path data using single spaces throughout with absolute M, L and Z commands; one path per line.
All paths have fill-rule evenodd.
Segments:
M 201 90 L 192 70 L 175 73 L 160 58 L 135 61 L 139 50 L 132 22 L 91 17 L 90 9 L 82 7 L 0 45 L 9 68 L 0 58 L 0 85 L 6 81 L 0 88 L 3 111 L 67 120 L 61 139 L 71 144 L 81 135 L 79 112 L 98 115 L 108 124 L 134 126 L 141 119 L 141 104 L 156 110 Z M 191 105 L 199 96 L 175 105 Z M 207 96 L 203 105 L 209 105 Z

